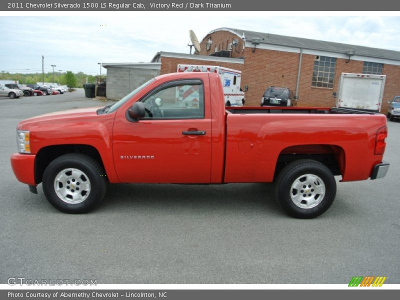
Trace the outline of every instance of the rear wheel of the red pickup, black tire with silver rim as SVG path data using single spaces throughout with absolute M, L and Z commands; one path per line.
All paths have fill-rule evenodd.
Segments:
M 301 185 L 307 182 L 306 180 L 301 180 L 304 177 L 307 178 L 307 180 L 311 179 L 313 183 Z M 315 178 L 315 180 L 313 180 L 313 178 Z M 300 184 L 298 189 L 292 189 L 292 185 L 295 186 L 295 182 Z M 306 187 L 301 189 L 303 186 Z M 313 189 L 313 187 L 315 189 Z M 318 194 L 316 191 L 317 189 L 321 189 L 323 192 Z M 297 200 L 303 200 L 295 204 L 292 197 L 295 197 L 297 192 L 299 192 Z M 299 159 L 292 161 L 282 168 L 276 178 L 275 197 L 283 210 L 293 217 L 312 218 L 322 214 L 330 207 L 335 195 L 336 181 L 332 172 L 324 164 L 316 160 Z M 309 204 L 313 201 L 316 203 L 314 203 L 315 206 Z M 310 207 L 308 207 L 308 205 Z

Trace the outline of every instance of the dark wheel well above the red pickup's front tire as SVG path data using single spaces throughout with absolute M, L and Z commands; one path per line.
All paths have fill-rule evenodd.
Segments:
M 55 158 L 63 154 L 74 153 L 74 152 L 83 153 L 94 158 L 104 168 L 100 154 L 98 153 L 97 149 L 91 145 L 68 144 L 68 145 L 46 146 L 41 148 L 36 154 L 35 168 L 34 168 L 35 182 L 40 183 L 42 181 L 44 170 L 51 161 L 53 161 Z

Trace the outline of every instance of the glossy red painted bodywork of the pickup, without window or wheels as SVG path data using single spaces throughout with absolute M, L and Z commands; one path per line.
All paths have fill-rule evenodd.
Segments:
M 181 78 L 203 81 L 204 118 L 137 122 L 126 118 L 127 109 L 143 95 L 162 83 Z M 161 75 L 115 112 L 97 115 L 96 108 L 48 113 L 21 121 L 18 129 L 30 131 L 31 154 L 11 156 L 17 179 L 35 184 L 35 154 L 43 147 L 61 144 L 96 148 L 111 183 L 269 182 L 281 153 L 332 153 L 343 181 L 362 180 L 381 162 L 384 151 L 384 132 L 377 131 L 386 124 L 384 115 L 233 114 L 225 111 L 222 86 L 215 73 Z M 310 109 L 274 108 L 304 112 Z M 262 111 L 270 107 L 237 109 Z M 183 135 L 183 130 L 204 130 L 206 134 Z

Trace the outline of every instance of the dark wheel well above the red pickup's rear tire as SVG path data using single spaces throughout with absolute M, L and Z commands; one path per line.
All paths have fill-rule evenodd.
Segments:
M 296 145 L 284 148 L 276 161 L 274 178 L 289 162 L 297 159 L 314 159 L 324 164 L 333 175 L 343 175 L 345 154 L 343 148 L 336 145 L 313 144 Z

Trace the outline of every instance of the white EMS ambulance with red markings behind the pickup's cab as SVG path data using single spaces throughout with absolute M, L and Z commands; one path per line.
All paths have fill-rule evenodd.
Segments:
M 223 66 L 216 65 L 195 65 L 195 64 L 178 64 L 178 72 L 212 72 L 218 73 L 221 78 L 223 96 L 225 98 L 226 106 L 243 106 L 244 92 L 240 88 L 241 71 L 230 69 Z M 181 94 L 187 94 L 181 90 Z M 186 100 L 187 102 L 187 100 Z

